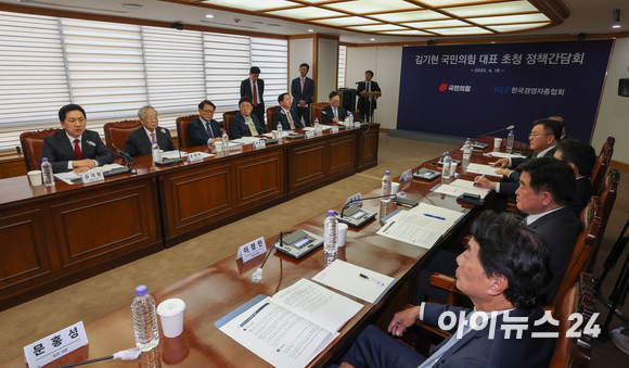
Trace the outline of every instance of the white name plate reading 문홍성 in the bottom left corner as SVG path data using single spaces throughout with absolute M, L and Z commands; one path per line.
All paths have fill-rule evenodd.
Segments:
M 84 322 L 79 321 L 30 345 L 24 346 L 24 356 L 26 357 L 28 367 L 43 367 L 88 343 L 88 335 Z

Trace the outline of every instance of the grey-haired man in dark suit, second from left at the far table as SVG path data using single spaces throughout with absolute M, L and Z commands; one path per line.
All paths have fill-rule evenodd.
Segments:
M 124 150 L 131 156 L 144 156 L 152 153 L 153 142 L 159 145 L 161 150 L 174 151 L 175 143 L 170 138 L 170 131 L 161 128 L 157 111 L 150 105 L 142 106 L 138 111 L 138 117 L 142 126 L 127 136 Z

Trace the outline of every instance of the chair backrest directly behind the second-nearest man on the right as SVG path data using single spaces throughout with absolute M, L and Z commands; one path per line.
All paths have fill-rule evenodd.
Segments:
M 568 262 L 568 266 L 566 267 L 562 282 L 560 283 L 560 288 L 550 303 L 550 305 L 555 309 L 565 293 L 575 283 L 579 272 L 581 272 L 586 267 L 595 242 L 600 240 L 599 234 L 601 231 L 602 217 L 603 207 L 601 206 L 601 199 L 596 195 L 592 195 L 590 202 L 588 202 L 588 205 L 583 208 L 583 212 L 581 212 L 581 233 L 579 234 L 579 238 L 577 238 L 577 244 L 575 245 L 575 250 L 573 251 L 573 255 L 570 256 L 570 261 Z

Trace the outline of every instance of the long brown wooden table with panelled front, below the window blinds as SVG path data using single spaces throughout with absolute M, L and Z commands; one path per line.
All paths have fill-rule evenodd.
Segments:
M 0 310 L 377 165 L 378 124 L 93 185 L 0 180 Z M 235 144 L 234 144 L 235 145 Z

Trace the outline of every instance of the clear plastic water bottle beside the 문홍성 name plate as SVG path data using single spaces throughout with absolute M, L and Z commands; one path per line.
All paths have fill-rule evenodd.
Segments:
M 146 285 L 143 284 L 136 288 L 137 296 L 131 304 L 136 346 L 140 347 L 142 352 L 147 352 L 159 345 L 155 300 L 147 293 L 147 290 Z

